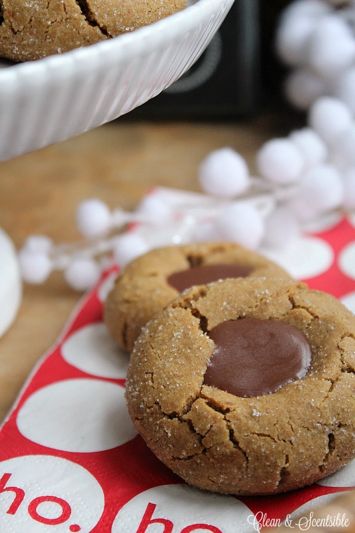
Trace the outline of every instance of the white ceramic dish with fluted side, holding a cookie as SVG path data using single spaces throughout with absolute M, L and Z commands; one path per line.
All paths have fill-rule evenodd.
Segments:
M 140 106 L 199 58 L 233 0 L 195 0 L 166 19 L 38 61 L 0 62 L 0 161 Z

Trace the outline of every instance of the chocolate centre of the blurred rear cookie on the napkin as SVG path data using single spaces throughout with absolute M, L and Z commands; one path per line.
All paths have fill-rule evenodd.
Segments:
M 193 285 L 205 285 L 218 279 L 245 278 L 250 272 L 249 266 L 238 264 L 196 265 L 170 274 L 167 280 L 171 287 L 181 293 Z

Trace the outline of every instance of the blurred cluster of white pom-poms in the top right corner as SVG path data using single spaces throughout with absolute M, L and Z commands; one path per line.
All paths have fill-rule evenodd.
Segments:
M 295 107 L 334 96 L 355 113 L 354 29 L 353 0 L 295 0 L 283 10 L 275 48 L 290 67 L 285 90 Z

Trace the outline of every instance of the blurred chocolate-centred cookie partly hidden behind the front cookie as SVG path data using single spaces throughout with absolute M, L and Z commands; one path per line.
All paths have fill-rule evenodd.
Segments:
M 221 278 L 288 274 L 262 255 L 234 243 L 154 249 L 131 262 L 105 302 L 104 318 L 121 348 L 131 351 L 141 329 L 185 288 Z

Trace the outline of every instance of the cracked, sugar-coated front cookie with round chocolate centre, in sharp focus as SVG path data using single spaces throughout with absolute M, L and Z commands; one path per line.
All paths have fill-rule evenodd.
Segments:
M 154 454 L 188 483 L 235 495 L 297 489 L 350 462 L 354 392 L 353 314 L 265 278 L 181 294 L 143 329 L 126 383 Z

